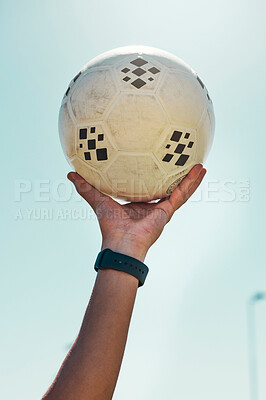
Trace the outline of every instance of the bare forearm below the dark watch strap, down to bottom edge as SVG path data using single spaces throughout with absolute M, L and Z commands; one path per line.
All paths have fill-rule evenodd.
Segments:
M 80 333 L 43 400 L 109 400 L 125 349 L 138 281 L 99 271 Z

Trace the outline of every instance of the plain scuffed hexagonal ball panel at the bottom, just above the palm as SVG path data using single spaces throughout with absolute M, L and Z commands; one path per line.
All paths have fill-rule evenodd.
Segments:
M 128 201 L 149 201 L 158 198 L 165 172 L 151 154 L 118 152 L 105 177 L 115 196 Z

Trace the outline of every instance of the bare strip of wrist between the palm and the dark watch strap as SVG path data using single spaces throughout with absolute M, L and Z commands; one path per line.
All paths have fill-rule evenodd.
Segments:
M 110 239 L 103 239 L 102 248 L 117 251 L 118 253 L 134 257 L 139 261 L 144 261 L 148 249 L 142 243 L 132 240 L 132 238 L 125 237 L 112 237 Z

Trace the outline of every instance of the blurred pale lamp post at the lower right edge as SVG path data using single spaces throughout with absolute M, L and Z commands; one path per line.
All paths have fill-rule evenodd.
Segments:
M 259 400 L 255 305 L 263 299 L 266 299 L 266 293 L 258 292 L 247 304 L 250 400 Z

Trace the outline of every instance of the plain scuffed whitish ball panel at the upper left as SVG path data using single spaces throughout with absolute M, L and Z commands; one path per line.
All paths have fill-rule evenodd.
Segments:
M 77 123 L 101 120 L 118 94 L 109 69 L 88 71 L 72 90 L 70 102 Z

